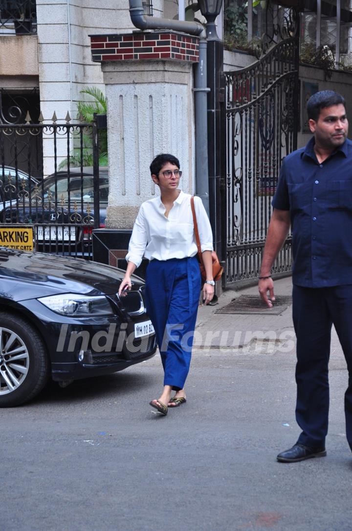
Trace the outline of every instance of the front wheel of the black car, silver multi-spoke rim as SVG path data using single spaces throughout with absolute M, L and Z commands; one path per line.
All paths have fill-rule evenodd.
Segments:
M 19 406 L 36 396 L 48 374 L 37 330 L 17 315 L 0 312 L 0 407 Z

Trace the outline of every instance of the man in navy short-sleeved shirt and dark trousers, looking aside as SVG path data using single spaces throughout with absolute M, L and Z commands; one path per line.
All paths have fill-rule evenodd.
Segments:
M 302 433 L 277 456 L 284 463 L 326 455 L 332 324 L 349 374 L 345 414 L 352 450 L 352 142 L 345 99 L 337 92 L 315 93 L 307 113 L 313 138 L 281 166 L 259 276 L 260 295 L 271 307 L 270 270 L 291 225 L 296 420 Z

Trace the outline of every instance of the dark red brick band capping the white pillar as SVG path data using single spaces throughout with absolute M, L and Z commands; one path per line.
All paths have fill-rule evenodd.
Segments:
M 124 33 L 91 35 L 93 61 L 128 59 L 174 59 L 199 61 L 199 39 L 178 32 Z

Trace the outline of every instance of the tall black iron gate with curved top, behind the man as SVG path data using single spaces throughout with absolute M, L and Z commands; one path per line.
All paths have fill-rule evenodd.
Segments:
M 289 36 L 296 35 L 295 13 L 287 13 L 283 22 L 286 38 L 258 62 L 223 77 L 225 286 L 258 277 L 281 162 L 297 146 L 298 37 Z M 277 40 L 279 36 L 276 32 Z M 290 270 L 288 238 L 272 271 Z

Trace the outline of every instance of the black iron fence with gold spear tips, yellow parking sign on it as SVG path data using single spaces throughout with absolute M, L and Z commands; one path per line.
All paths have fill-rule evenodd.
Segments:
M 104 226 L 108 202 L 98 141 L 106 121 L 70 122 L 0 123 L 0 245 L 28 250 L 33 234 L 36 251 L 92 258 L 92 230 Z

